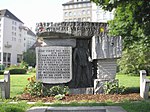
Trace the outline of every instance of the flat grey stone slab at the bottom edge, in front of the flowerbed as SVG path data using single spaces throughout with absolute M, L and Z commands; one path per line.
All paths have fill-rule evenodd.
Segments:
M 119 106 L 33 107 L 27 112 L 127 112 Z

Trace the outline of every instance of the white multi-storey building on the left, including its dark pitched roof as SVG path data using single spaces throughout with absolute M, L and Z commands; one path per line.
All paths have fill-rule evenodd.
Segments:
M 28 29 L 9 10 L 0 10 L 0 64 L 18 64 L 26 51 Z

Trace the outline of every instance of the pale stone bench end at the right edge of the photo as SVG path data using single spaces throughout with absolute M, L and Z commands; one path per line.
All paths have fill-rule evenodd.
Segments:
M 144 99 L 149 97 L 150 80 L 146 79 L 146 71 L 140 71 L 140 96 Z

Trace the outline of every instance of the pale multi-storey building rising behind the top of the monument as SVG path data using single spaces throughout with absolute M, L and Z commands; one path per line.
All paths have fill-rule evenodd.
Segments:
M 71 0 L 62 6 L 65 22 L 107 22 L 113 19 L 112 12 L 102 10 L 90 0 Z

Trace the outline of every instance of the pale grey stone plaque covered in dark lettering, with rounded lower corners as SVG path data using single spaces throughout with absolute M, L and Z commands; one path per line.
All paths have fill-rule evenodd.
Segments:
M 72 79 L 72 47 L 37 47 L 37 80 L 67 83 Z

